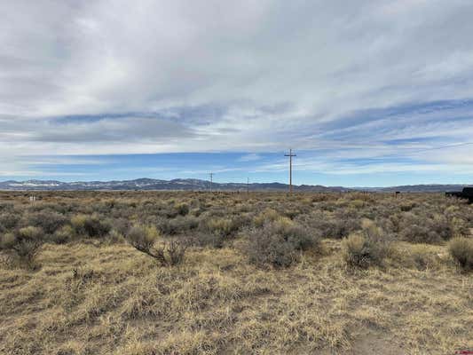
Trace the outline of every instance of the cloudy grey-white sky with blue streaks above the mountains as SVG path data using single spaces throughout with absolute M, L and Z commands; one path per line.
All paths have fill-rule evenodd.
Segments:
M 470 0 L 0 13 L 0 180 L 473 183 Z

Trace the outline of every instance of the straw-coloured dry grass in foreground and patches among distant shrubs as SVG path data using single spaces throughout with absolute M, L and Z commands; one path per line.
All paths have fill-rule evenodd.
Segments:
M 171 196 L 196 209 L 192 196 Z M 268 196 L 251 198 L 277 219 L 285 196 Z M 225 199 L 248 213 L 241 196 L 206 195 L 202 203 Z M 353 201 L 337 203 L 361 204 L 359 196 Z M 297 203 L 311 213 L 312 203 L 326 202 L 309 195 Z M 248 263 L 239 246 L 246 238 L 243 228 L 223 248 L 190 247 L 173 267 L 125 242 L 87 238 L 43 244 L 36 271 L 0 264 L 0 353 L 448 354 L 473 347 L 473 278 L 458 271 L 445 243 L 393 241 L 382 268 L 352 270 L 343 241 L 324 239 L 317 252 L 301 251 L 297 264 L 274 269 Z

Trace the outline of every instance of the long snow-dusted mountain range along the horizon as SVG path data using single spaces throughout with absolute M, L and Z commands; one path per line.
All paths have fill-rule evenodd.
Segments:
M 322 185 L 294 185 L 296 192 L 395 192 L 401 193 L 439 193 L 445 191 L 461 191 L 468 185 L 403 185 L 391 187 L 343 187 Z M 0 182 L 0 190 L 17 191 L 74 191 L 74 190 L 177 190 L 177 191 L 246 191 L 244 183 L 212 183 L 207 180 L 195 178 L 176 178 L 173 180 L 158 180 L 154 178 L 138 178 L 136 180 L 122 181 L 78 181 L 61 182 L 56 180 L 27 180 Z M 249 184 L 250 191 L 287 191 L 287 184 L 280 183 L 254 183 Z

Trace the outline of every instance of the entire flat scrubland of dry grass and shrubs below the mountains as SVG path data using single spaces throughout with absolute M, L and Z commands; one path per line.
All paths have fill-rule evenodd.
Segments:
M 473 347 L 473 255 L 461 264 L 451 241 L 473 245 L 462 201 L 58 192 L 32 204 L 29 194 L 0 193 L 0 353 Z

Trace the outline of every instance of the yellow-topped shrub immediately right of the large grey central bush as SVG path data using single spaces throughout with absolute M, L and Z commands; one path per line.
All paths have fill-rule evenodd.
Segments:
M 372 265 L 382 265 L 389 248 L 382 229 L 369 225 L 361 233 L 351 234 L 342 241 L 343 260 L 350 267 L 367 269 Z

